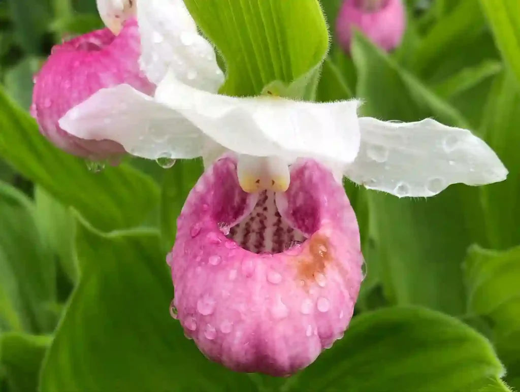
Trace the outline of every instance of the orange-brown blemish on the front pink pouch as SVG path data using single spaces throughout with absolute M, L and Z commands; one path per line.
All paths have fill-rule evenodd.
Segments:
M 297 278 L 306 285 L 316 281 L 320 273 L 333 261 L 329 239 L 320 233 L 314 233 L 308 240 L 308 251 L 296 258 Z M 302 283 L 303 282 L 303 283 Z

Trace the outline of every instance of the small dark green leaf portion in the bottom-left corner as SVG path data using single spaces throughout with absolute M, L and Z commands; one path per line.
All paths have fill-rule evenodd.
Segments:
M 10 392 L 34 392 L 49 336 L 8 333 L 0 336 L 0 365 L 5 369 Z

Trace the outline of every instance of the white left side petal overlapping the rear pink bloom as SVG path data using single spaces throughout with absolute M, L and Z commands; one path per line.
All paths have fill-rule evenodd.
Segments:
M 211 143 L 179 113 L 126 84 L 99 90 L 59 124 L 74 136 L 114 140 L 148 159 L 195 158 Z

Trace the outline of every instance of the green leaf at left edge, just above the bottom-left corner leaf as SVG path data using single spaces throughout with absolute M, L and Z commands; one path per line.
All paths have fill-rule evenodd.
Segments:
M 34 205 L 17 189 L 0 183 L 0 217 L 0 325 L 51 331 L 56 272 L 35 225 Z

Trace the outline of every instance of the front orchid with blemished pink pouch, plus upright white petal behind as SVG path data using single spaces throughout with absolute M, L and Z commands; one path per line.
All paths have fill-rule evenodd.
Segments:
M 59 123 L 144 158 L 203 156 L 167 257 L 172 315 L 230 369 L 292 374 L 346 330 L 363 258 L 344 175 L 399 197 L 506 176 L 469 130 L 359 119 L 357 101 L 219 95 L 224 76 L 182 0 L 139 0 L 137 20 L 155 95 L 102 89 Z

